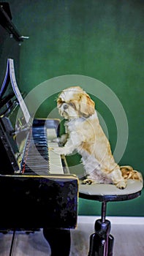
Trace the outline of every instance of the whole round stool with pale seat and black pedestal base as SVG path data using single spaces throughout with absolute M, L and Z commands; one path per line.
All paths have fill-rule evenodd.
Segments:
M 79 197 L 102 202 L 101 219 L 95 222 L 95 233 L 90 237 L 88 256 L 113 256 L 114 238 L 110 235 L 110 221 L 106 219 L 107 202 L 132 200 L 139 197 L 143 182 L 128 180 L 126 189 L 118 189 L 107 184 L 80 184 Z

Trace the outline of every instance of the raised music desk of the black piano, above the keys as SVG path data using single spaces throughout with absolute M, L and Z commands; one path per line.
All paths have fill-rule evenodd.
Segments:
M 0 88 L 0 153 L 1 172 L 19 172 L 19 159 L 31 126 L 31 116 L 15 78 L 13 59 L 7 59 L 7 70 Z M 19 150 L 21 148 L 21 151 Z M 7 165 L 7 166 L 6 166 Z

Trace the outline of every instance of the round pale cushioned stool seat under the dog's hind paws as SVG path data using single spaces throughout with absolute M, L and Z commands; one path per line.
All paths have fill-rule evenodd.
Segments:
M 99 201 L 130 200 L 140 195 L 143 182 L 129 179 L 125 189 L 118 189 L 113 184 L 82 184 L 79 181 L 80 197 Z

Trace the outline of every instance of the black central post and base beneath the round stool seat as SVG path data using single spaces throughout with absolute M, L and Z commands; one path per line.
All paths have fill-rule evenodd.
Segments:
M 95 233 L 90 237 L 88 256 L 113 256 L 113 236 L 110 235 L 110 221 L 105 219 L 106 203 L 102 203 L 102 219 L 95 223 Z

